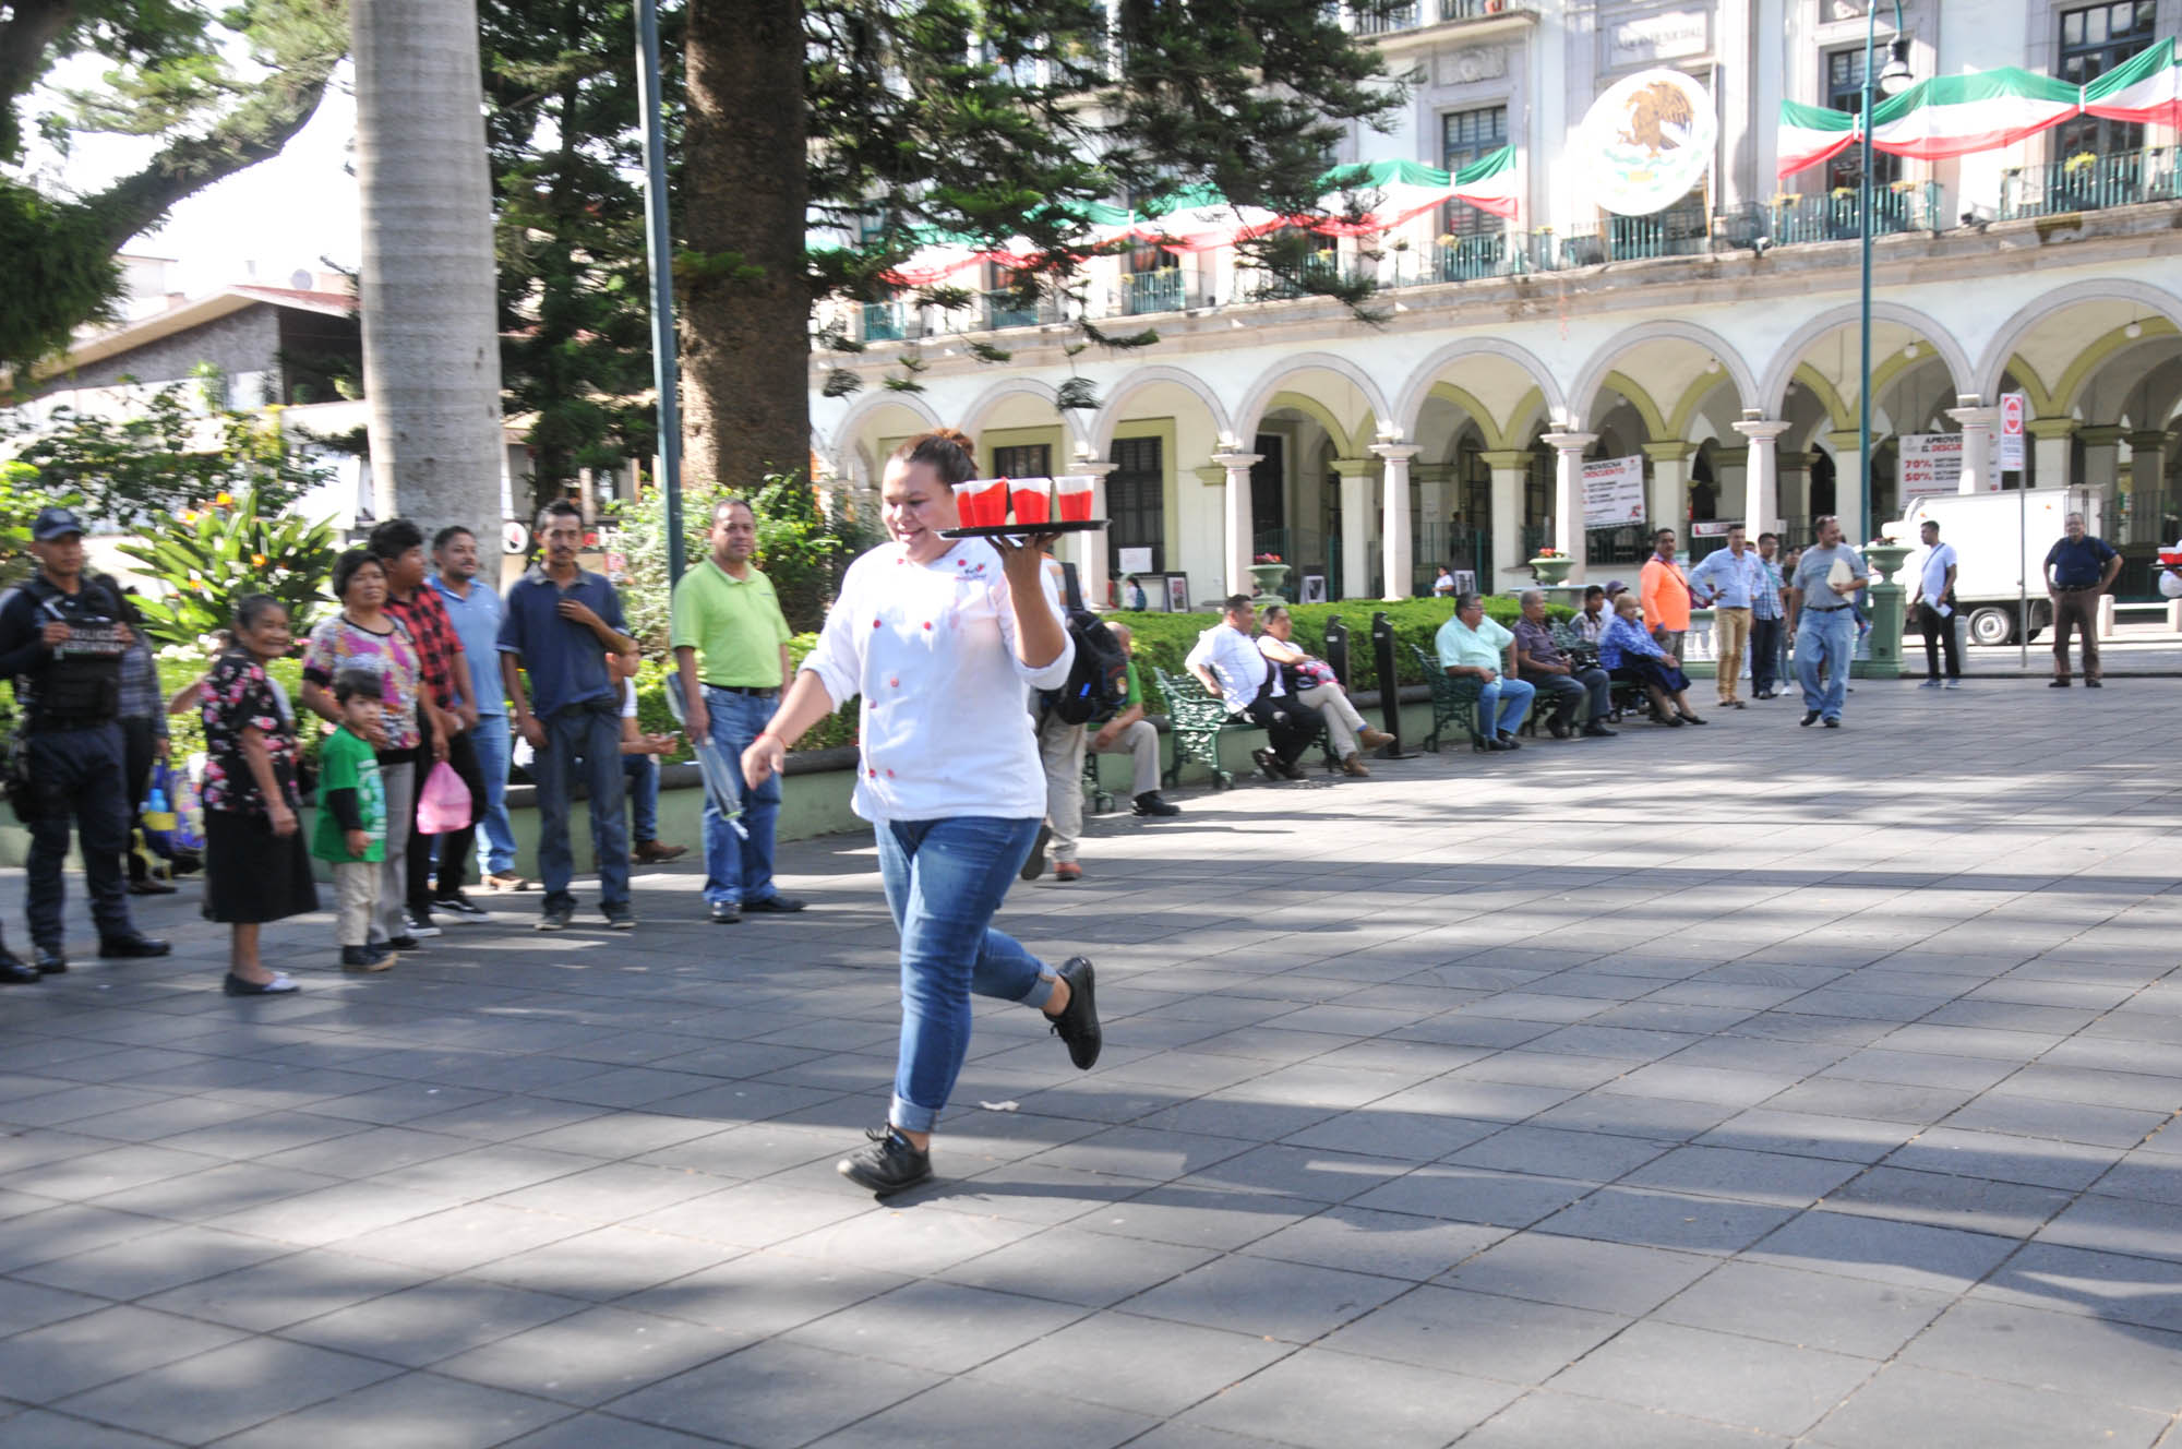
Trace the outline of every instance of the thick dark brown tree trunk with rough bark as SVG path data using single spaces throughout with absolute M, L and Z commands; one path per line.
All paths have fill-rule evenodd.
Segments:
M 803 4 L 690 0 L 683 137 L 683 480 L 810 471 Z

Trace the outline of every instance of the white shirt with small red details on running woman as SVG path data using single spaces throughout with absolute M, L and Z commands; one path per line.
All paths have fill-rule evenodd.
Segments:
M 1045 607 L 1060 618 L 1052 580 Z M 1058 690 L 1076 642 L 1030 668 L 999 554 L 960 539 L 932 563 L 882 543 L 849 565 L 803 668 L 836 705 L 862 696 L 855 814 L 866 821 L 1045 814 L 1045 768 L 1026 690 Z

